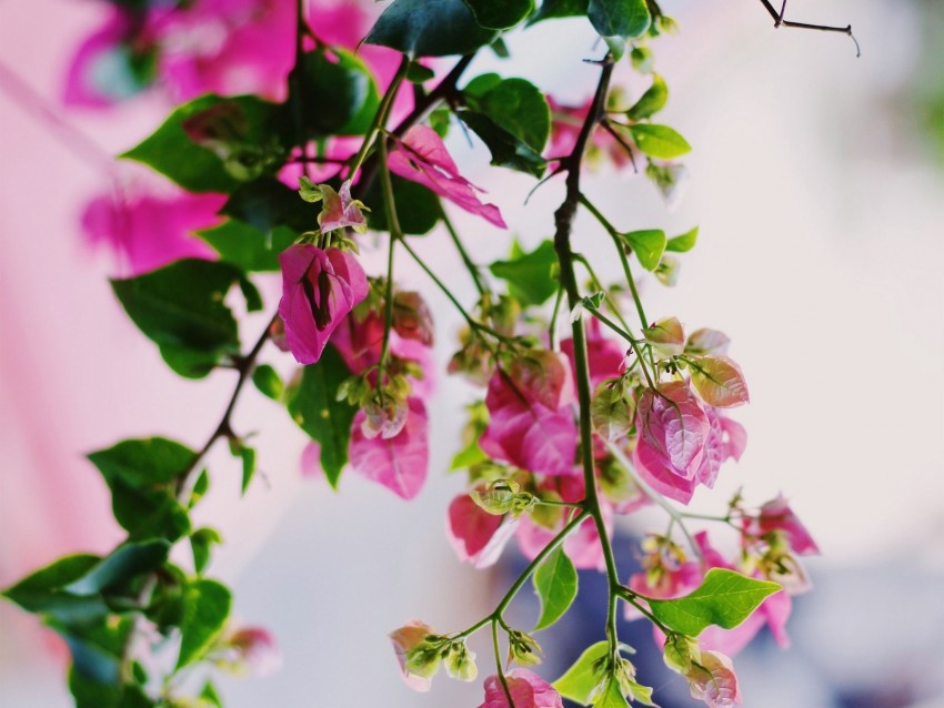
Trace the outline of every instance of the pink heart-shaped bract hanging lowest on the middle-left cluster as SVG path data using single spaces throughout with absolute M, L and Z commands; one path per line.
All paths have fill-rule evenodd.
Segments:
M 390 438 L 364 435 L 362 427 L 366 414 L 359 411 L 351 426 L 349 454 L 353 472 L 409 500 L 420 493 L 426 481 L 430 449 L 423 402 L 411 397 L 408 406 L 403 428 Z

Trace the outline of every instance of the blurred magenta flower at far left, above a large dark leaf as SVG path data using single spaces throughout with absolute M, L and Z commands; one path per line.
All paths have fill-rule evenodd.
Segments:
M 214 260 L 215 251 L 193 233 L 217 225 L 225 201 L 221 194 L 183 191 L 173 196 L 99 196 L 86 206 L 82 229 L 89 242 L 116 252 L 128 275 L 140 275 L 179 259 Z

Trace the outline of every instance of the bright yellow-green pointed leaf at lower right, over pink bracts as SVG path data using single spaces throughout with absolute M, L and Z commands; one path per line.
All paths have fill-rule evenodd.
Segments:
M 732 629 L 747 619 L 780 585 L 712 568 L 694 591 L 673 600 L 650 599 L 652 614 L 679 634 L 696 637 L 709 625 Z

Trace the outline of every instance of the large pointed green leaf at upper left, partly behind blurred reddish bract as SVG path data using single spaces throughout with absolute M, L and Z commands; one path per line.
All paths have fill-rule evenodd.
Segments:
M 247 145 L 267 142 L 274 104 L 252 95 L 224 99 L 211 94 L 177 108 L 150 138 L 119 156 L 147 164 L 188 192 L 231 192 L 241 180 L 233 176 L 233 170 L 228 170 L 215 153 L 193 142 L 183 129 L 185 121 L 223 104 L 235 107 L 242 118 L 241 139 Z

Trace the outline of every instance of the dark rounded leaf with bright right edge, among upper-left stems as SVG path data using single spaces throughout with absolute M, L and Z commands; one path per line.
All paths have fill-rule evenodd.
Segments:
M 340 47 L 304 55 L 304 118 L 310 136 L 363 135 L 380 108 L 376 82 L 366 64 Z

